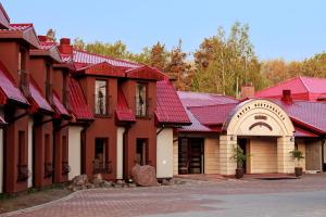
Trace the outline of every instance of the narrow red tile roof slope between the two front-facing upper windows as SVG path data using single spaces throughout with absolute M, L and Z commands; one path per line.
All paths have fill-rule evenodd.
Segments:
M 121 87 L 117 88 L 117 106 L 115 115 L 118 122 L 136 122 L 135 114 L 133 110 L 129 108 Z

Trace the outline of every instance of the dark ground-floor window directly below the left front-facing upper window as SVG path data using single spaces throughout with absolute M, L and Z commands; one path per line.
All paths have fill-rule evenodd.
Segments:
M 93 174 L 110 174 L 112 171 L 108 155 L 108 138 L 96 138 Z

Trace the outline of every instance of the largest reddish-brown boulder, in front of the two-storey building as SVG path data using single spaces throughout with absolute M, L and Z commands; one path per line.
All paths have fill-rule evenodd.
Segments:
M 158 187 L 155 168 L 150 165 L 140 166 L 136 164 L 131 169 L 131 176 L 137 186 Z

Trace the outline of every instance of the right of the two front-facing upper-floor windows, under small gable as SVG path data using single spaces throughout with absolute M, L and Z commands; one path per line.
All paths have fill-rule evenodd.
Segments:
M 137 84 L 136 86 L 136 116 L 147 116 L 147 85 Z

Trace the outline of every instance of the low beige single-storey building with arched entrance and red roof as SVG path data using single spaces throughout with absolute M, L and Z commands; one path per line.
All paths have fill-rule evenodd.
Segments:
M 263 90 L 258 97 L 241 101 L 178 92 L 192 125 L 178 129 L 174 174 L 233 175 L 236 164 L 230 156 L 235 144 L 249 155 L 247 174 L 293 173 L 294 162 L 289 152 L 294 149 L 305 156 L 301 162 L 303 170 L 325 170 L 326 104 L 294 100 L 291 90 L 281 90 L 281 85 L 267 89 L 271 99 L 259 97 Z M 278 87 L 281 95 L 272 91 Z

